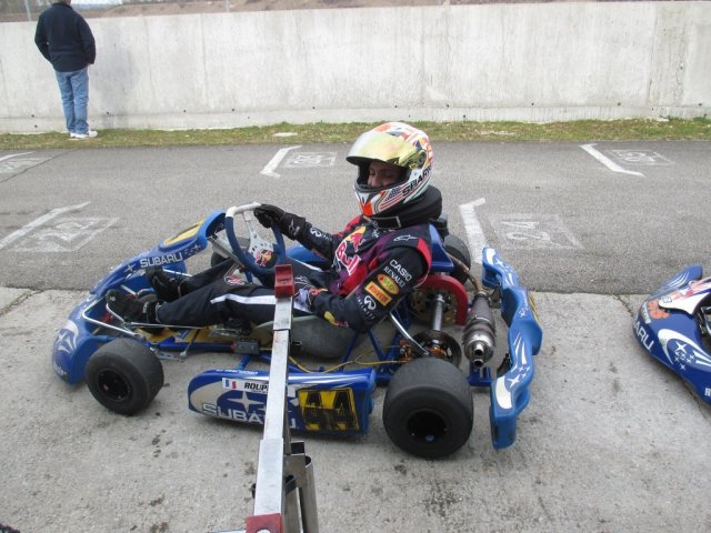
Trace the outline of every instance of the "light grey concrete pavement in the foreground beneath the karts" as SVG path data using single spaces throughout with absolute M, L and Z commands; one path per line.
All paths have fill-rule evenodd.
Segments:
M 188 381 L 226 356 L 167 362 L 151 406 L 119 416 L 50 365 L 58 324 L 82 298 L 0 290 L 0 523 L 22 533 L 243 527 L 261 432 L 187 408 Z M 478 392 L 463 449 L 409 456 L 384 433 L 379 389 L 365 436 L 301 435 L 320 531 L 711 530 L 711 410 L 638 345 L 641 296 L 534 298 L 545 336 L 515 444 L 492 447 L 489 396 Z

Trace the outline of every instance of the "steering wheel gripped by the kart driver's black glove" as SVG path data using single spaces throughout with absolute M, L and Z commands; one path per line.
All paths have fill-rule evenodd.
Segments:
M 269 250 L 277 254 L 277 263 L 286 263 L 287 248 L 284 247 L 284 238 L 276 224 L 272 224 L 271 227 L 271 232 L 274 234 L 276 242 L 269 242 L 257 232 L 254 224 L 256 219 L 253 217 L 247 217 L 247 213 L 253 212 L 254 209 L 260 205 L 261 203 L 252 202 L 228 209 L 224 213 L 224 233 L 227 234 L 227 240 L 232 248 L 232 252 L 247 270 L 257 275 L 273 275 L 274 266 L 262 266 L 261 264 L 258 264 L 257 261 L 254 261 L 254 254 L 260 250 Z M 237 239 L 237 234 L 234 233 L 234 215 L 237 214 L 242 215 L 242 220 L 247 227 L 247 232 L 249 233 L 249 243 L 247 247 L 240 244 Z

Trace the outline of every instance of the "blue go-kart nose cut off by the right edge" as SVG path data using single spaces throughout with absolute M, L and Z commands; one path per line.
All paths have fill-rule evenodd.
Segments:
M 711 278 L 694 264 L 667 280 L 640 306 L 637 340 L 711 403 Z

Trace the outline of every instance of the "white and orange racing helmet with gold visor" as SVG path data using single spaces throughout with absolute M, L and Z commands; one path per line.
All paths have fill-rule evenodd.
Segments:
M 432 147 L 421 130 L 403 122 L 387 122 L 360 135 L 346 160 L 358 167 L 353 190 L 365 217 L 394 215 L 428 188 L 432 174 Z M 371 161 L 402 167 L 402 179 L 384 187 L 369 187 Z

